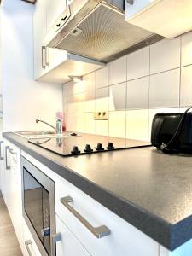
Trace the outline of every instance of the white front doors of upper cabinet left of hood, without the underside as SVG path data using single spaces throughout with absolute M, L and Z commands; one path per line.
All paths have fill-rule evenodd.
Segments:
M 44 44 L 44 38 L 49 26 L 51 26 L 50 24 L 64 9 L 65 1 L 63 0 L 38 0 L 35 5 L 33 15 L 35 80 L 41 79 L 45 73 L 49 73 L 53 68 L 60 65 L 62 61 L 66 60 L 65 50 L 51 49 Z M 44 79 L 41 79 L 41 81 L 44 81 Z

